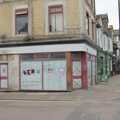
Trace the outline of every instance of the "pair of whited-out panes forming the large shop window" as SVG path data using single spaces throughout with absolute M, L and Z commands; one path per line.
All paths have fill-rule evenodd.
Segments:
M 67 90 L 66 61 L 21 62 L 21 90 Z

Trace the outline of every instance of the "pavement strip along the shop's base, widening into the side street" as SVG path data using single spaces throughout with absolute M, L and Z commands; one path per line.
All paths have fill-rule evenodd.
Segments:
M 107 100 L 120 93 L 120 76 L 114 76 L 106 83 L 91 86 L 88 90 L 75 90 L 73 92 L 0 92 L 0 100 L 26 100 L 26 101 L 79 101 L 95 98 Z M 108 96 L 110 94 L 110 98 Z M 106 97 L 108 96 L 108 97 Z

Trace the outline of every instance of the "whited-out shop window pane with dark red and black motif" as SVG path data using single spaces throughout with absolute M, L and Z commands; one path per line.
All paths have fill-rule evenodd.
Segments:
M 21 63 L 21 89 L 42 90 L 42 62 L 26 61 Z

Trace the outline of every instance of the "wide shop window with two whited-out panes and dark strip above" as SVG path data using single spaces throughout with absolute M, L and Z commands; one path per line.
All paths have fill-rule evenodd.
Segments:
M 67 90 L 65 53 L 21 55 L 21 90 Z

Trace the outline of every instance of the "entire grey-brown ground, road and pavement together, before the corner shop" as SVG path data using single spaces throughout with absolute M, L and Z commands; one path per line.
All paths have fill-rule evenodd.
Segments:
M 120 76 L 70 93 L 0 92 L 0 120 L 120 120 Z

